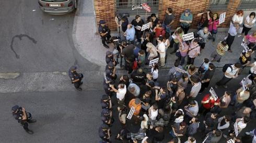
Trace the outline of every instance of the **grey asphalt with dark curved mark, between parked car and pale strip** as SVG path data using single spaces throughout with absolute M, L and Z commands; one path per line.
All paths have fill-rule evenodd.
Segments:
M 31 0 L 3 0 L 0 11 L 0 72 L 67 71 L 73 64 L 83 71 L 98 70 L 74 47 L 75 12 L 44 14 Z

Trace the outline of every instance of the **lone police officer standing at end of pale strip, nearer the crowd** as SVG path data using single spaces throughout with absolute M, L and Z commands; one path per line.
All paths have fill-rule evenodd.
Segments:
M 69 68 L 68 70 L 68 75 L 71 79 L 71 83 L 74 84 L 75 88 L 79 91 L 82 90 L 82 88 L 80 87 L 80 85 L 83 84 L 82 79 L 84 77 L 84 75 L 82 73 L 77 73 L 76 72 L 77 67 L 76 66 L 72 66 L 71 68 Z

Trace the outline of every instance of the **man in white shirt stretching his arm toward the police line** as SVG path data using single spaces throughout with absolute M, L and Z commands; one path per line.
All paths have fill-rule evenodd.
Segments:
M 126 85 L 125 84 L 119 84 L 118 89 L 114 88 L 114 85 L 109 85 L 115 93 L 117 93 L 117 99 L 118 99 L 118 104 L 120 106 L 124 105 L 124 97 L 126 94 Z

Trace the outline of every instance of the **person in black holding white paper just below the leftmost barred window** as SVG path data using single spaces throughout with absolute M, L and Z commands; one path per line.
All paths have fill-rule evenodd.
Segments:
M 136 44 L 138 45 L 139 42 L 141 42 L 141 36 L 142 36 L 142 25 L 144 24 L 144 21 L 141 19 L 141 16 L 136 15 L 135 19 L 132 20 L 132 24 L 135 28 L 135 35 L 137 40 L 135 40 L 135 42 L 137 42 Z

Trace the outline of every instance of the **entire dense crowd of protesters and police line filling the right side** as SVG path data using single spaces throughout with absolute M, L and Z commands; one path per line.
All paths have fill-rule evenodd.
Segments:
M 185 9 L 181 14 L 178 28 L 172 27 L 174 15 L 171 8 L 166 10 L 163 20 L 158 19 L 155 14 L 148 17 L 150 27 L 145 31 L 141 31 L 145 23 L 138 15 L 131 23 L 127 22 L 126 17 L 122 18 L 121 24 L 117 23 L 122 27 L 125 40 L 115 43 L 117 48 L 106 53 L 107 66 L 103 80 L 106 94 L 101 98 L 103 123 L 99 127 L 101 142 L 111 142 L 110 128 L 114 123 L 114 107 L 118 109 L 120 122 L 120 132 L 115 139 L 122 142 L 138 142 L 140 139 L 144 143 L 162 142 L 166 132 L 171 137 L 170 143 L 178 143 L 181 140 L 195 143 L 194 135 L 197 132 L 201 132 L 202 139 L 207 143 L 218 142 L 222 137 L 237 143 L 245 142 L 246 139 L 256 142 L 255 129 L 246 132 L 249 138 L 240 134 L 247 123 L 256 118 L 256 62 L 252 62 L 252 54 L 256 49 L 256 32 L 249 32 L 255 23 L 255 12 L 251 12 L 243 21 L 243 11 L 238 10 L 232 17 L 227 37 L 216 45 L 211 59 L 204 58 L 198 68 L 194 65 L 194 60 L 207 48 L 205 43 L 212 40 L 215 44 L 219 14 L 205 11 L 196 16 L 201 17 L 201 20 L 196 21 L 197 32 L 195 38 L 190 41 L 183 41 L 182 38 L 194 22 L 189 9 Z M 104 21 L 100 22 L 100 27 L 107 29 Z M 171 27 L 174 32 L 171 32 Z M 103 28 L 100 28 L 99 32 L 103 45 L 106 45 L 105 42 L 111 37 L 105 36 L 110 32 L 106 33 Z M 223 78 L 215 86 L 215 90 L 226 88 L 226 91 L 219 97 L 213 93 L 207 94 L 208 92 L 204 91 L 216 74 L 214 62 L 219 62 L 226 51 L 232 52 L 231 45 L 235 36 L 241 36 L 243 33 L 243 43 L 247 48 L 241 51 L 239 62 L 223 65 Z M 159 68 L 165 67 L 167 62 L 167 48 L 173 48 L 171 54 L 176 54 L 177 59 L 168 76 L 165 75 L 168 82 L 159 83 L 158 71 Z M 184 65 L 186 57 L 187 64 Z M 150 60 L 157 58 L 158 62 L 150 63 Z M 120 67 L 127 70 L 127 74 L 117 75 L 117 64 L 121 64 Z M 145 65 L 148 64 L 151 69 L 145 72 Z M 247 70 L 245 67 L 251 67 L 249 74 L 245 76 L 243 84 L 238 83 L 240 88 L 233 94 L 232 88 L 227 87 L 228 83 L 238 76 L 243 76 L 240 73 Z M 162 84 L 166 86 L 160 86 Z M 198 100 L 196 97 L 199 94 L 205 95 Z M 113 99 L 117 100 L 117 106 L 113 106 Z M 222 112 L 230 106 L 235 107 L 234 113 L 223 114 Z M 131 120 L 135 126 L 141 126 L 137 133 L 129 131 L 127 120 Z

